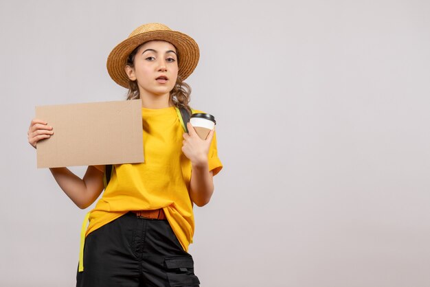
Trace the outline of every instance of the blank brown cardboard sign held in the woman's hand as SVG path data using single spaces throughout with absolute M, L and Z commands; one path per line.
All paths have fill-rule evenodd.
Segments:
M 37 143 L 37 167 L 144 162 L 142 102 L 36 106 L 54 135 Z

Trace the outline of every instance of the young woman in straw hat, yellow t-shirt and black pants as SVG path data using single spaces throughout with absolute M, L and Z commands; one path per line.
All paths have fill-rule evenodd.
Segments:
M 192 206 L 206 205 L 212 177 L 223 167 L 212 131 L 203 140 L 190 124 L 184 133 L 176 108 L 187 108 L 183 80 L 199 61 L 199 46 L 181 32 L 152 23 L 137 27 L 107 60 L 111 78 L 142 100 L 144 163 L 114 165 L 104 189 L 104 165 L 89 166 L 83 179 L 51 168 L 73 203 L 89 207 L 77 286 L 199 286 L 188 245 L 194 233 Z M 54 131 L 34 119 L 28 141 L 36 148 Z

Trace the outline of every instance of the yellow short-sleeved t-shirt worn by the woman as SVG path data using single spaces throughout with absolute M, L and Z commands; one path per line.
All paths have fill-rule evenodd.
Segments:
M 196 111 L 199 113 L 199 111 Z M 142 108 L 144 163 L 114 165 L 109 185 L 89 214 L 86 236 L 128 211 L 162 208 L 185 251 L 194 234 L 194 215 L 188 194 L 191 162 L 181 148 L 183 128 L 174 107 Z M 208 153 L 209 170 L 217 174 L 222 163 L 216 137 Z

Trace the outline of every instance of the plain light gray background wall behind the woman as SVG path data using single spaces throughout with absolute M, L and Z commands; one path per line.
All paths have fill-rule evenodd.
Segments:
M 84 214 L 27 143 L 34 106 L 124 99 L 111 49 L 195 38 L 219 156 L 190 247 L 202 286 L 430 286 L 430 3 L 0 2 L 0 285 L 74 286 Z M 73 168 L 82 175 L 84 168 Z

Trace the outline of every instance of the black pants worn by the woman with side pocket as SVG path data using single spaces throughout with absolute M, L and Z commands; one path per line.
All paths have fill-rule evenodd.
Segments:
M 167 220 L 129 212 L 89 233 L 77 287 L 199 286 L 194 262 Z

